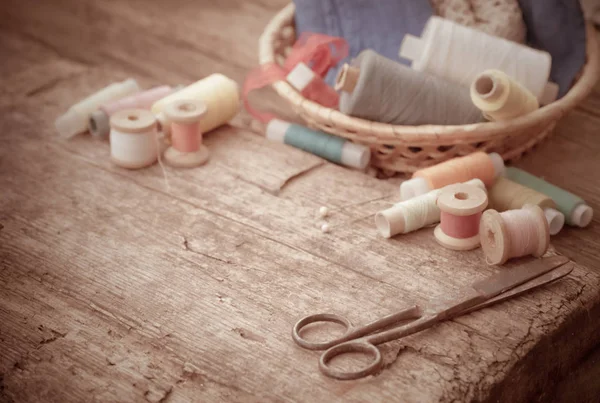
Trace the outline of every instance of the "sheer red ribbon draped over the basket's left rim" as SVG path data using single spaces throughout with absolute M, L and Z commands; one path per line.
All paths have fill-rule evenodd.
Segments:
M 286 80 L 286 76 L 298 64 L 304 63 L 315 73 L 309 85 L 301 94 L 323 106 L 337 107 L 339 96 L 328 86 L 323 77 L 329 69 L 348 56 L 348 43 L 344 38 L 332 37 L 323 34 L 303 33 L 292 47 L 292 51 L 285 60 L 283 67 L 276 63 L 267 63 L 252 70 L 242 88 L 244 106 L 256 119 L 266 123 L 275 116 L 271 113 L 258 112 L 250 106 L 248 94 L 251 91 L 266 87 L 276 81 Z

